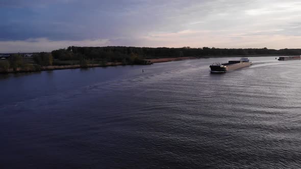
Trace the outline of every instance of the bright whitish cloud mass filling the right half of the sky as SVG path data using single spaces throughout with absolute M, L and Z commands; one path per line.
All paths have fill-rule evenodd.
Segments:
M 153 47 L 301 47 L 298 45 L 301 42 L 298 21 L 301 3 L 298 1 L 188 2 L 189 6 L 178 6 L 178 12 L 177 8 L 164 10 L 165 23 L 140 36 L 143 39 L 140 44 Z

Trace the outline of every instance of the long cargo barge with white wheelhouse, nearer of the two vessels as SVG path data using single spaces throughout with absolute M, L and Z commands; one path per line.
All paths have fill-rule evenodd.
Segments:
M 252 62 L 248 58 L 242 58 L 239 61 L 229 61 L 228 63 L 220 64 L 213 63 L 210 65 L 211 72 L 229 72 L 239 68 L 252 65 Z

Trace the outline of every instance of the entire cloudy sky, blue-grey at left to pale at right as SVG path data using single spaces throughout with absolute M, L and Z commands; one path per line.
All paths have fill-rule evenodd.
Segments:
M 295 0 L 0 0 L 0 52 L 74 46 L 301 48 Z

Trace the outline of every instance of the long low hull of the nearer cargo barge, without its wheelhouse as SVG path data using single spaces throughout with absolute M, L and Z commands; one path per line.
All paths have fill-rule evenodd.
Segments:
M 236 63 L 236 64 L 221 64 L 221 66 L 219 65 L 211 65 L 210 69 L 211 72 L 213 73 L 219 73 L 219 72 L 229 72 L 232 70 L 236 70 L 236 69 L 240 69 L 240 68 L 244 68 L 244 67 L 248 67 L 252 65 L 252 62 L 242 62 L 242 63 Z

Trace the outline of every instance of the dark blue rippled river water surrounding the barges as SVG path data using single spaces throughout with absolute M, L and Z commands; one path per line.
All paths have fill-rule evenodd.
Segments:
M 234 59 L 0 75 L 0 168 L 300 168 L 301 61 Z

